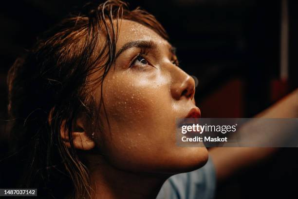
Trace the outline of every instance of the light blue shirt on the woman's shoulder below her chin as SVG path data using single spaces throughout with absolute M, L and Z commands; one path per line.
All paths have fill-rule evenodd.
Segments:
M 202 168 L 170 177 L 156 199 L 213 199 L 215 188 L 215 168 L 209 156 Z

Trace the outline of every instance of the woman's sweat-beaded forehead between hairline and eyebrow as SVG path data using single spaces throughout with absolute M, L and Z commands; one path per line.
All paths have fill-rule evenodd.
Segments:
M 119 21 L 119 38 L 117 41 L 117 50 L 121 48 L 124 44 L 135 41 L 135 40 L 152 40 L 157 45 L 170 46 L 167 40 L 163 39 L 152 29 L 131 20 L 121 20 Z

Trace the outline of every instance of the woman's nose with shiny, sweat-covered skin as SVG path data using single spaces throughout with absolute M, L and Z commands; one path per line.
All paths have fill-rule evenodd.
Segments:
M 180 100 L 183 97 L 193 100 L 195 80 L 181 68 L 175 67 L 172 71 L 172 84 L 170 90 L 171 95 L 175 100 Z

